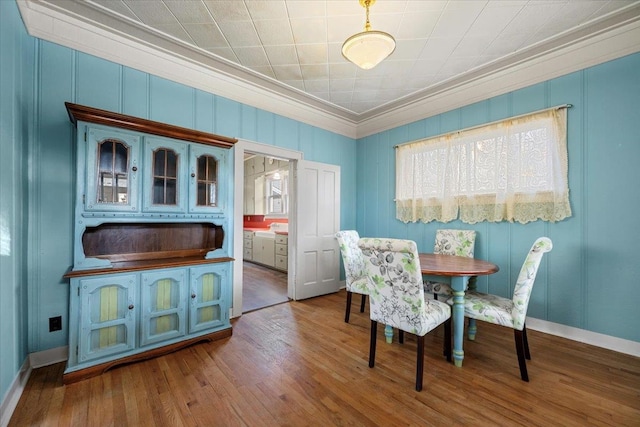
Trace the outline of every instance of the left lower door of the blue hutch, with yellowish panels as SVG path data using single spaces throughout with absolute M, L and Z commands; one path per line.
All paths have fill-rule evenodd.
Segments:
M 79 363 L 134 348 L 136 284 L 132 274 L 80 281 Z

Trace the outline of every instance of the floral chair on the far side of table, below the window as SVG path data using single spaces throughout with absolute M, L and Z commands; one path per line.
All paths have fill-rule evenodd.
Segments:
M 476 232 L 474 230 L 437 230 L 433 253 L 473 258 L 475 245 Z M 425 280 L 424 291 L 433 294 L 435 299 L 438 299 L 438 295 L 447 298 L 453 296 L 453 290 L 448 283 Z

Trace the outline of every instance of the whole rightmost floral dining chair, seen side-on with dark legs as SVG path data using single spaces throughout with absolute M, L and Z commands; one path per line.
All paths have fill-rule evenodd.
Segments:
M 552 248 L 553 244 L 547 237 L 540 237 L 535 241 L 520 269 L 513 289 L 513 298 L 508 299 L 475 291 L 469 291 L 465 295 L 464 315 L 466 317 L 513 328 L 520 377 L 523 381 L 529 381 L 525 358 L 531 359 L 525 326 L 529 298 L 542 256 Z M 453 298 L 450 298 L 447 303 L 453 304 Z

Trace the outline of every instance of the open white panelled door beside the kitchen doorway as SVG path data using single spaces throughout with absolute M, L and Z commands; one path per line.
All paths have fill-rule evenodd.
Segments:
M 299 160 L 296 176 L 295 300 L 337 292 L 340 284 L 340 167 Z

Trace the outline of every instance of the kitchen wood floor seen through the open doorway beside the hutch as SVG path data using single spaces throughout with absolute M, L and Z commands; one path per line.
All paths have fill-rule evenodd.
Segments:
M 287 273 L 252 262 L 242 263 L 243 313 L 287 301 Z

